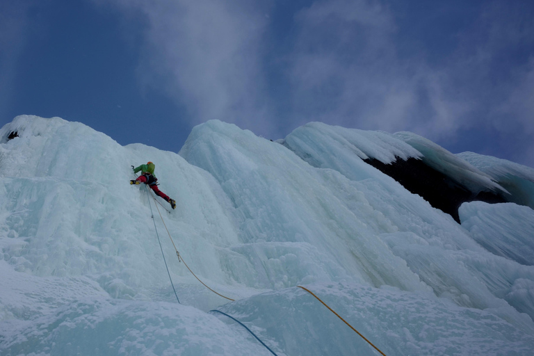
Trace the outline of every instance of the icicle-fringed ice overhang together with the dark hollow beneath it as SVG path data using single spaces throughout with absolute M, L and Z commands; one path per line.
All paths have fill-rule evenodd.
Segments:
M 432 207 L 448 213 L 458 223 L 458 208 L 463 202 L 517 202 L 509 199 L 510 193 L 489 175 L 410 132 L 392 135 L 312 122 L 296 129 L 280 143 L 314 167 L 332 168 L 351 179 L 369 177 L 361 167 L 363 160 L 411 193 L 421 195 Z

